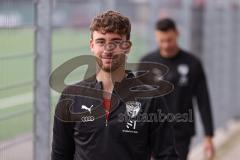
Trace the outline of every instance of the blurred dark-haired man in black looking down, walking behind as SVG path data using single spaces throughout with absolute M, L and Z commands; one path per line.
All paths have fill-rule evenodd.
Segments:
M 172 19 L 159 20 L 156 23 L 155 34 L 159 49 L 147 54 L 141 62 L 160 63 L 169 68 L 166 76 L 159 77 L 174 85 L 173 92 L 164 96 L 167 105 L 174 115 L 188 114 L 187 119 L 176 119 L 174 123 L 176 147 L 180 158 L 181 160 L 187 159 L 190 141 L 195 134 L 193 99 L 196 99 L 205 129 L 204 151 L 211 159 L 214 155 L 213 120 L 201 62 L 192 54 L 179 48 L 177 43 L 179 33 Z

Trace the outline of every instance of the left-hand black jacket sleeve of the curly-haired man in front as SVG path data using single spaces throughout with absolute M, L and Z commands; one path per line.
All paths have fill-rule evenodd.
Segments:
M 67 114 L 63 113 L 67 112 L 69 105 L 69 99 L 66 99 L 65 96 L 61 96 L 54 116 L 51 160 L 73 160 L 74 158 L 74 123 L 67 122 Z M 62 116 L 65 116 L 65 118 Z

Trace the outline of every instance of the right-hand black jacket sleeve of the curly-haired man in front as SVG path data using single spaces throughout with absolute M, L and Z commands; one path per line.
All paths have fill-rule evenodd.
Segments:
M 166 118 L 169 113 L 167 106 L 162 98 L 155 99 L 153 103 L 155 113 L 158 115 L 158 121 L 152 122 L 150 127 L 152 157 L 154 160 L 179 160 L 175 148 L 173 126 Z

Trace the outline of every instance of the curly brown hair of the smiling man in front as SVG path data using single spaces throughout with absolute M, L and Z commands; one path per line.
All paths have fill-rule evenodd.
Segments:
M 127 17 L 116 11 L 107 11 L 96 16 L 90 25 L 91 38 L 93 31 L 101 33 L 117 33 L 126 35 L 127 40 L 130 39 L 131 24 Z

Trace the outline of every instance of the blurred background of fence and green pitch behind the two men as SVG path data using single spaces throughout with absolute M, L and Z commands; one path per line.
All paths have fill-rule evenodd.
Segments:
M 49 156 L 50 117 L 59 94 L 51 91 L 49 96 L 39 88 L 48 83 L 49 72 L 67 60 L 91 54 L 91 18 L 108 9 L 132 22 L 133 49 L 128 62 L 138 62 L 157 47 L 157 19 L 176 21 L 181 47 L 202 60 L 207 74 L 216 159 L 240 156 L 240 0 L 0 0 L 0 159 L 46 160 L 43 157 Z M 67 83 L 81 80 L 85 69 L 74 70 Z M 44 71 L 49 72 L 44 75 Z M 46 88 L 50 90 L 49 85 Z M 41 95 L 46 103 L 37 100 Z M 41 104 L 49 106 L 41 110 Z M 191 157 L 199 158 L 203 130 L 198 117 Z M 42 142 L 48 146 L 38 154 L 46 146 Z

